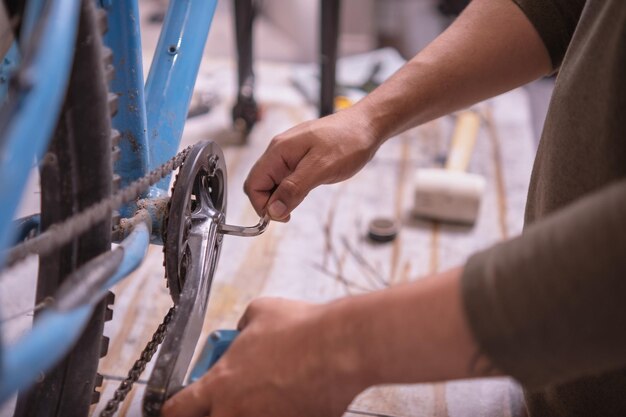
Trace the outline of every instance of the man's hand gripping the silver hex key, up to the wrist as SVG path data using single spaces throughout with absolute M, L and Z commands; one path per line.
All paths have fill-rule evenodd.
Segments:
M 259 215 L 288 221 L 313 188 L 350 178 L 378 145 L 367 119 L 354 109 L 302 123 L 272 139 L 244 191 Z

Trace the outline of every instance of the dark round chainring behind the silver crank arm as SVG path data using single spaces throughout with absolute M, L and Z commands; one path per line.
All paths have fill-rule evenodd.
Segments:
M 203 204 L 200 193 L 209 196 L 210 204 L 226 217 L 226 164 L 224 154 L 215 142 L 199 142 L 191 149 L 172 188 L 163 227 L 165 276 L 174 303 L 178 303 L 185 285 L 188 260 L 187 237 L 192 213 Z M 217 242 L 219 258 L 222 236 Z M 217 259 L 215 259 L 217 263 Z

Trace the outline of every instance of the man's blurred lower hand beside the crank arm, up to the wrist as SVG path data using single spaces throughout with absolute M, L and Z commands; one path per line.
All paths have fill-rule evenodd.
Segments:
M 204 377 L 172 397 L 162 415 L 341 416 L 365 387 L 352 383 L 346 365 L 331 358 L 342 352 L 342 342 L 329 339 L 323 309 L 284 299 L 254 301 L 226 354 Z

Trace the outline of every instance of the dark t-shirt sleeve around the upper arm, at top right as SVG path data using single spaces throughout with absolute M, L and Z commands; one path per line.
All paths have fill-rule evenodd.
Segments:
M 513 0 L 532 22 L 548 49 L 552 67 L 561 66 L 585 0 Z

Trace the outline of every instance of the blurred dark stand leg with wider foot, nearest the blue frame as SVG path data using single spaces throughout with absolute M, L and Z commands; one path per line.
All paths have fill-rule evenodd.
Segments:
M 234 0 L 235 32 L 237 38 L 237 102 L 233 107 L 233 125 L 247 135 L 258 120 L 254 100 L 254 71 L 252 68 L 252 31 L 257 13 L 254 0 Z M 244 139 L 245 140 L 245 139 Z

